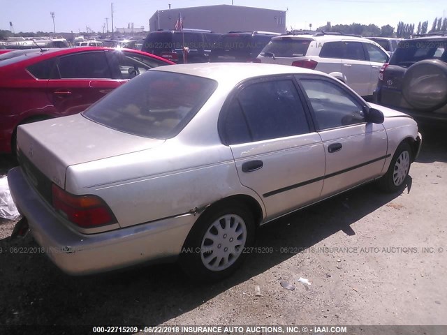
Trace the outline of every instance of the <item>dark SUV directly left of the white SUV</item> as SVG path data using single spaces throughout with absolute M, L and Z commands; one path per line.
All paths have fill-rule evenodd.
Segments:
M 257 62 L 259 52 L 272 37 L 279 35 L 268 31 L 233 31 L 223 34 L 212 47 L 210 61 Z

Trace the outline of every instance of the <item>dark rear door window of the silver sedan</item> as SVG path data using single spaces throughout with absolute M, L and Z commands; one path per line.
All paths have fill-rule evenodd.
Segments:
M 229 144 L 309 133 L 305 111 L 292 80 L 258 82 L 244 87 L 224 121 Z

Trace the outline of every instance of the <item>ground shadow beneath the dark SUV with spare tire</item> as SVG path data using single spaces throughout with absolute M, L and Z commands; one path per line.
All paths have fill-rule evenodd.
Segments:
M 419 123 L 419 131 L 423 136 L 422 148 L 418 163 L 447 163 L 447 124 Z

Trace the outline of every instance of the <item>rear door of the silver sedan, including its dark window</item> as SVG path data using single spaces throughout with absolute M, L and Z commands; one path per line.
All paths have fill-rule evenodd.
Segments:
M 244 84 L 219 119 L 242 185 L 263 199 L 267 219 L 315 201 L 325 155 L 293 77 Z

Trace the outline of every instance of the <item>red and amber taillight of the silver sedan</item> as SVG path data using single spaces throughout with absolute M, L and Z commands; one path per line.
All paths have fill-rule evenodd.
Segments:
M 59 214 L 82 228 L 117 222 L 108 205 L 96 195 L 73 195 L 52 184 L 52 203 Z

